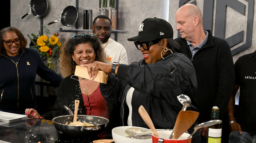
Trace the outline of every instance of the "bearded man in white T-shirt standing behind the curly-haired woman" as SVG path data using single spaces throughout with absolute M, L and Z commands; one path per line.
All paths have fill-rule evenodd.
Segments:
M 107 16 L 99 15 L 93 21 L 93 33 L 100 37 L 109 62 L 128 64 L 125 48 L 120 43 L 110 38 L 111 25 L 112 22 Z

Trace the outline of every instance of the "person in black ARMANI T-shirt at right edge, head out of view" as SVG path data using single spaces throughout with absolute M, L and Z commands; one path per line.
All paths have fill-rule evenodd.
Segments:
M 235 86 L 227 106 L 230 128 L 229 143 L 252 143 L 256 137 L 256 50 L 238 58 L 235 62 Z M 235 119 L 236 93 L 240 87 L 239 105 Z M 254 141 L 253 141 L 254 140 Z

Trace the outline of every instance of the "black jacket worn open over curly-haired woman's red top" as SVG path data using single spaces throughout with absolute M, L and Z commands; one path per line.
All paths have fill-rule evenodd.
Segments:
M 71 74 L 71 75 L 74 75 Z M 45 119 L 52 120 L 55 117 L 69 115 L 69 113 L 63 108 L 63 105 L 67 105 L 74 112 L 75 111 L 75 100 L 79 100 L 78 115 L 85 115 L 84 102 L 82 97 L 82 92 L 79 86 L 79 82 L 75 79 L 70 78 L 70 76 L 65 77 L 57 91 L 57 99 L 54 104 L 53 111 L 50 111 L 44 114 L 42 117 Z M 120 113 L 120 104 L 111 104 L 108 102 L 109 108 L 109 128 L 119 126 L 119 113 Z

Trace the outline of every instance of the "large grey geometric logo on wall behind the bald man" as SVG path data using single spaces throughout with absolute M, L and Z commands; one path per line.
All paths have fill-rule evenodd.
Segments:
M 180 0 L 179 7 L 183 6 L 190 0 Z M 252 43 L 252 23 L 253 23 L 253 7 L 254 0 L 244 0 L 247 5 L 238 0 L 216 0 L 216 13 L 215 13 L 215 27 L 214 36 L 224 39 L 225 36 L 225 22 L 226 22 L 226 7 L 230 7 L 240 14 L 245 16 L 245 6 L 247 6 L 247 24 L 246 32 L 241 30 L 240 32 L 226 38 L 231 50 L 232 56 L 238 54 L 239 52 L 249 48 Z M 196 0 L 192 1 L 191 4 L 196 5 Z M 212 30 L 213 24 L 213 9 L 214 0 L 204 0 L 203 1 L 203 29 Z M 232 27 L 237 29 L 239 27 Z M 246 34 L 245 34 L 246 33 Z M 180 32 L 178 32 L 178 37 L 180 37 Z M 245 36 L 245 40 L 244 40 Z M 235 46 L 239 43 L 243 43 L 240 46 Z

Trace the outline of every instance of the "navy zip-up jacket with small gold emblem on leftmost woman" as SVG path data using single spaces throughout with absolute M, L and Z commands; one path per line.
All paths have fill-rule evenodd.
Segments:
M 17 63 L 2 53 L 0 57 L 0 109 L 5 112 L 24 114 L 26 108 L 36 109 L 35 77 L 60 84 L 62 77 L 47 68 L 40 55 L 25 48 Z

